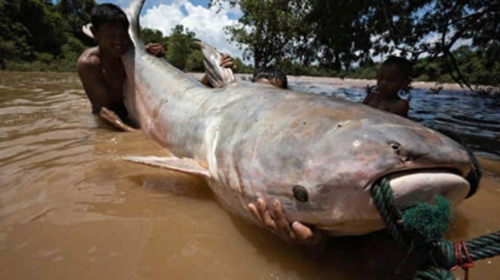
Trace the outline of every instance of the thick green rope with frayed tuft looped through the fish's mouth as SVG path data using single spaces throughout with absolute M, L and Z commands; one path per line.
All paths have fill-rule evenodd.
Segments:
M 444 239 L 452 219 L 450 204 L 436 197 L 434 205 L 419 203 L 401 212 L 386 178 L 371 189 L 372 197 L 392 237 L 420 263 L 414 280 L 454 280 L 450 270 L 462 266 L 468 276 L 472 261 L 500 255 L 500 231 L 466 242 Z

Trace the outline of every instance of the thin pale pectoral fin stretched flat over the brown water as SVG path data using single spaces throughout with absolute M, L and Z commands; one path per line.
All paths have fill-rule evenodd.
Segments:
M 187 173 L 190 175 L 195 175 L 198 177 L 210 177 L 208 169 L 199 165 L 196 160 L 192 158 L 176 158 L 168 157 L 161 158 L 155 156 L 126 156 L 123 160 L 128 160 L 129 162 L 135 162 L 140 164 L 146 164 L 153 167 L 159 167 L 161 169 L 169 169 L 173 171 L 179 171 L 182 173 Z

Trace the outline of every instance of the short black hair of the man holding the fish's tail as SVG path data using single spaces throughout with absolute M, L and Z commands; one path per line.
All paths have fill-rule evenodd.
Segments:
M 99 31 L 103 23 L 110 23 L 112 25 L 119 25 L 125 30 L 128 30 L 127 15 L 119 6 L 112 3 L 103 3 L 96 5 L 90 11 L 90 21 L 94 28 Z

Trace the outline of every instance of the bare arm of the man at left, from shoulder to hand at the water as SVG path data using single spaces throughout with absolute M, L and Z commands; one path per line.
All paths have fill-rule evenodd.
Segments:
M 112 126 L 122 131 L 135 131 L 136 129 L 126 125 L 117 114 L 105 107 L 108 104 L 108 91 L 99 78 L 100 64 L 99 58 L 92 55 L 81 56 L 77 62 L 78 75 L 93 109 Z

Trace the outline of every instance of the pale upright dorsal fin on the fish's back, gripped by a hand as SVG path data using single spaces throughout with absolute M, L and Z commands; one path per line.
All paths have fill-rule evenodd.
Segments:
M 221 53 L 211 45 L 201 41 L 197 43 L 201 46 L 201 52 L 203 52 L 203 65 L 205 65 L 205 72 L 210 84 L 213 87 L 223 87 L 236 82 L 232 69 L 219 65 L 221 63 Z

